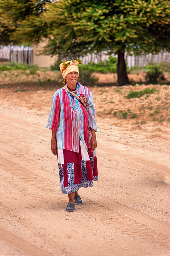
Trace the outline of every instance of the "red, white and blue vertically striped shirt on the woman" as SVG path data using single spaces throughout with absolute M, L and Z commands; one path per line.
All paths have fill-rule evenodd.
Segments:
M 97 131 L 95 105 L 92 93 L 77 82 L 78 96 L 85 97 L 87 109 L 63 88 L 57 90 L 52 99 L 52 107 L 47 128 L 56 132 L 57 148 L 79 152 L 79 139 L 86 149 L 90 146 L 91 127 Z

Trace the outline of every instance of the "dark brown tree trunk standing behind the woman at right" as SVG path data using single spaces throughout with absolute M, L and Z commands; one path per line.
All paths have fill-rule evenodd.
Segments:
M 117 79 L 118 79 L 119 86 L 125 86 L 127 84 L 130 84 L 129 79 L 127 77 L 127 72 L 126 72 L 126 64 L 124 61 L 124 52 L 118 53 Z

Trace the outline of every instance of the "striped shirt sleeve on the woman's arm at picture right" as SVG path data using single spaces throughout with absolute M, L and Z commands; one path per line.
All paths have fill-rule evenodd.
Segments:
M 88 101 L 87 101 L 87 112 L 88 112 L 88 116 L 89 116 L 89 122 L 88 122 L 88 127 L 91 127 L 92 129 L 94 129 L 95 131 L 97 131 L 97 124 L 95 121 L 95 114 L 96 114 L 96 108 L 93 102 L 93 96 L 92 93 L 88 92 L 89 97 L 88 97 Z

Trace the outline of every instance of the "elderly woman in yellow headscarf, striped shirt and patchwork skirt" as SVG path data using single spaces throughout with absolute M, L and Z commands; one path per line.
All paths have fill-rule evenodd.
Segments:
M 60 185 L 68 194 L 66 211 L 82 204 L 81 187 L 97 181 L 95 105 L 92 93 L 77 81 L 81 60 L 60 64 L 65 86 L 55 92 L 47 128 L 52 130 L 51 151 L 57 155 Z

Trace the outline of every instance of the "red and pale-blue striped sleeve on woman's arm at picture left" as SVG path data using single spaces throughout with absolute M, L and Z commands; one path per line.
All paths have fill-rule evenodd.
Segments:
M 60 118 L 60 97 L 59 90 L 55 92 L 52 99 L 52 107 L 48 119 L 47 128 L 50 130 L 57 132 L 59 126 L 59 118 Z

